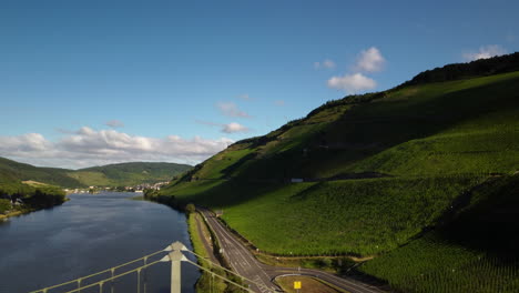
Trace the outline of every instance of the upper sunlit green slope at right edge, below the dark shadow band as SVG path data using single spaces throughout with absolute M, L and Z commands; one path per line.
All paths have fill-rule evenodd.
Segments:
M 345 171 L 394 175 L 508 173 L 517 168 L 519 129 L 438 134 L 399 144 Z

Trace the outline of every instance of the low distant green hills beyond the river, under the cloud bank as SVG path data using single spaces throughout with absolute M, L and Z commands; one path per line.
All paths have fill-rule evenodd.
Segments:
M 134 162 L 81 170 L 39 168 L 0 158 L 0 183 L 37 181 L 63 188 L 120 186 L 170 181 L 186 164 Z

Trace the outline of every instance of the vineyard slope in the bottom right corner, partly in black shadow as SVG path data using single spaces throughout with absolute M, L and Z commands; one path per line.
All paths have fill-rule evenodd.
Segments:
M 454 220 L 362 265 L 404 292 L 517 292 L 519 175 L 475 190 Z

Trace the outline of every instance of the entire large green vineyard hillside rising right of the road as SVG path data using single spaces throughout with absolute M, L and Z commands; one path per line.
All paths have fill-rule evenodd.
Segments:
M 487 267 L 489 275 L 515 276 L 518 263 L 501 261 L 517 255 L 502 249 L 519 246 L 510 236 L 519 232 L 517 212 L 479 231 L 480 238 L 455 239 L 461 233 L 452 231 L 465 230 L 447 228 L 469 213 L 476 215 L 467 219 L 491 218 L 477 199 L 485 198 L 487 206 L 497 203 L 503 191 L 495 180 L 517 180 L 518 69 L 515 53 L 446 65 L 385 92 L 329 101 L 264 137 L 234 143 L 160 196 L 223 209 L 231 228 L 273 254 L 383 255 L 363 270 L 391 284 L 408 282 L 409 274 L 394 273 L 396 262 L 421 257 L 420 251 L 430 251 L 427 257 L 437 266 L 424 260 L 409 270 L 430 275 L 432 283 L 460 250 L 467 253 L 455 262 L 458 269 L 471 263 L 477 272 Z M 485 196 L 477 195 L 482 190 Z M 507 203 L 509 213 L 519 211 L 517 200 Z M 498 235 L 498 249 L 479 245 Z M 446 280 L 446 287 L 454 285 Z

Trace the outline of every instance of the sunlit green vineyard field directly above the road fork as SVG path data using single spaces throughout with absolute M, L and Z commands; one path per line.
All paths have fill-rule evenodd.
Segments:
M 271 253 L 368 255 L 434 226 L 454 199 L 477 183 L 472 178 L 417 178 L 273 186 L 262 196 L 223 206 L 223 219 Z

